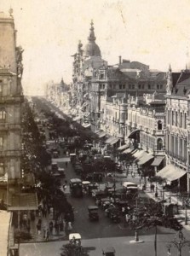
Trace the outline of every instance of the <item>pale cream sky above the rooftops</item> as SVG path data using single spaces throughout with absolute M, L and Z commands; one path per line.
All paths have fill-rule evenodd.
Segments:
M 109 65 L 141 61 L 152 69 L 184 69 L 190 62 L 190 0 L 0 0 L 14 9 L 17 45 L 23 53 L 26 94 L 44 84 L 72 82 L 72 56 L 87 44 L 94 21 L 96 44 Z

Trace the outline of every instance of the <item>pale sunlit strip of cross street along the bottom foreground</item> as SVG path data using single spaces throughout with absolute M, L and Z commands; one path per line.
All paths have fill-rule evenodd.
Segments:
M 166 235 L 166 234 L 165 234 Z M 172 240 L 174 234 L 167 233 L 167 236 L 158 236 L 158 254 L 157 256 L 167 256 L 166 244 Z M 141 236 L 143 243 L 131 244 L 132 236 L 109 237 L 101 239 L 83 240 L 82 245 L 88 251 L 89 256 L 101 256 L 101 250 L 105 247 L 115 247 L 116 256 L 153 256 L 154 254 L 154 236 Z M 20 245 L 20 256 L 60 256 L 60 248 L 66 242 L 53 241 L 47 243 L 31 243 Z M 171 255 L 177 255 L 176 249 L 172 248 Z M 182 250 L 182 255 L 188 255 L 187 247 Z

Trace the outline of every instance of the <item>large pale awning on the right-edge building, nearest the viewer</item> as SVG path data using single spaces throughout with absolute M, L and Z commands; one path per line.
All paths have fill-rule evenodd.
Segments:
M 182 170 L 181 168 L 170 164 L 168 166 L 165 166 L 161 171 L 157 172 L 156 176 L 163 177 L 171 182 L 182 177 L 186 173 L 187 172 Z

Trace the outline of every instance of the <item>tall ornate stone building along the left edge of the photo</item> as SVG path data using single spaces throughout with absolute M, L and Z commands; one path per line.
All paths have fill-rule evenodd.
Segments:
M 11 194 L 17 192 L 20 180 L 22 52 L 16 46 L 12 10 L 9 15 L 0 12 L 0 180 L 8 179 Z

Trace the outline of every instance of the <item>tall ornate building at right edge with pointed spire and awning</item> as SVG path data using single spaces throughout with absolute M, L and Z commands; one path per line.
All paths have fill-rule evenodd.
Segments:
M 179 189 L 189 191 L 190 70 L 168 72 L 165 109 L 167 166 L 159 174 Z

